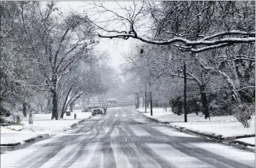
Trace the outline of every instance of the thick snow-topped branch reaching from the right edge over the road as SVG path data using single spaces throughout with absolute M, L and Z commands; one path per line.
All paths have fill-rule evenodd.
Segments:
M 178 48 L 181 49 L 181 51 L 194 51 L 196 53 L 206 51 L 206 50 L 211 50 L 214 48 L 221 48 L 224 46 L 230 46 L 236 43 L 255 43 L 255 32 L 250 32 L 247 33 L 245 31 L 238 31 L 238 30 L 233 30 L 230 31 L 229 33 L 227 31 L 223 31 L 221 33 L 216 33 L 211 36 L 206 36 L 203 39 L 199 40 L 194 40 L 191 41 L 186 38 L 181 38 L 181 37 L 175 37 L 169 40 L 153 40 L 153 39 L 148 39 L 142 36 L 138 36 L 135 33 L 116 33 L 112 35 L 103 35 L 103 34 L 98 34 L 100 38 L 123 38 L 123 39 L 128 39 L 128 38 L 135 38 L 139 39 L 140 41 L 143 41 L 145 43 L 150 43 L 153 45 L 171 45 L 174 44 Z M 242 37 L 224 37 L 220 38 L 223 36 L 242 36 Z M 220 39 L 213 39 L 213 38 L 220 38 Z M 211 39 L 211 40 L 209 40 Z M 180 45 L 181 44 L 181 45 Z

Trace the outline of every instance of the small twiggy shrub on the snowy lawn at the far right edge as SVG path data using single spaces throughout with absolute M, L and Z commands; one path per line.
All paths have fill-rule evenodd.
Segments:
M 255 115 L 255 104 L 239 104 L 233 106 L 235 110 L 235 118 L 237 118 L 238 122 L 243 124 L 243 127 L 250 127 L 250 123 L 252 122 L 253 115 Z

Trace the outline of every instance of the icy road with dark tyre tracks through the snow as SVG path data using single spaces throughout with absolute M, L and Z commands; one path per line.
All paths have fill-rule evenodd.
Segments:
M 74 130 L 1 154 L 1 167 L 255 167 L 255 153 L 109 109 Z

